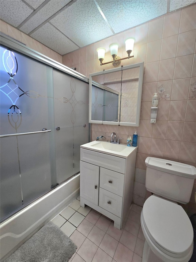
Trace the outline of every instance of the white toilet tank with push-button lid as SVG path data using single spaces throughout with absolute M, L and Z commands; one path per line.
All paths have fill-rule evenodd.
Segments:
M 161 197 L 187 204 L 190 201 L 196 168 L 187 164 L 147 157 L 146 189 Z

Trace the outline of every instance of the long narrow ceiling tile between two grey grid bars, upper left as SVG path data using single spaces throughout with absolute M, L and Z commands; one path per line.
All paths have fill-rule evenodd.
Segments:
M 64 7 L 70 0 L 65 1 L 50 1 L 45 6 L 43 6 L 40 11 L 38 11 L 32 18 L 30 18 L 21 28 L 20 30 L 24 33 L 28 34 L 33 29 L 41 25 L 44 21 L 50 18 L 53 14 L 55 14 L 58 10 Z

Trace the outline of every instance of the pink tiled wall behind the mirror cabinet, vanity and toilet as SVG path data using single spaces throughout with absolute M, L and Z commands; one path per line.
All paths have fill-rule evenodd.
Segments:
M 118 56 L 125 57 L 124 41 L 136 39 L 134 58 L 122 65 L 145 62 L 141 117 L 139 127 L 92 124 L 92 140 L 103 134 L 115 132 L 117 137 L 138 132 L 138 153 L 134 182 L 134 203 L 143 205 L 150 193 L 145 190 L 145 158 L 154 156 L 196 165 L 196 4 L 165 14 L 150 22 L 78 49 L 62 57 L 64 65 L 76 67 L 85 76 L 103 69 L 96 49 L 104 47 L 104 62 L 111 61 L 109 44 L 119 43 Z M 156 124 L 150 123 L 153 93 L 159 96 Z M 194 192 L 188 205 L 188 214 L 196 213 Z

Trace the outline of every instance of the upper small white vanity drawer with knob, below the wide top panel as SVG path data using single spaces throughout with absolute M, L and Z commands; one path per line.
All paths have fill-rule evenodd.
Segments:
M 100 187 L 122 197 L 124 176 L 124 174 L 100 167 Z

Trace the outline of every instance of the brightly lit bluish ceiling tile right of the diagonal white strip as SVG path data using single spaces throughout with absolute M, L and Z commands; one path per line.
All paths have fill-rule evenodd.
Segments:
M 167 12 L 167 1 L 97 0 L 107 21 L 119 33 Z

